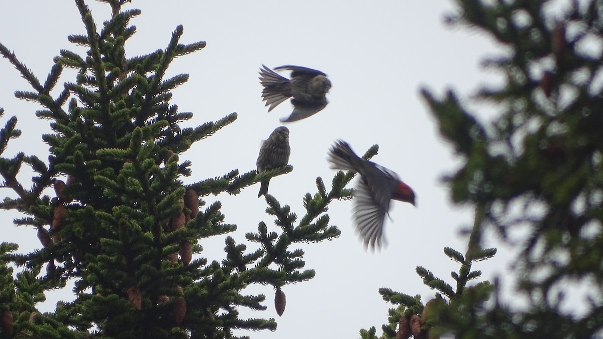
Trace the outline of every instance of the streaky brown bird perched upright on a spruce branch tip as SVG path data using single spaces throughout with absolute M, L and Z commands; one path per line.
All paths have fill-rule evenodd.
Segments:
M 257 173 L 264 170 L 277 169 L 285 166 L 289 162 L 289 129 L 285 126 L 280 126 L 274 129 L 260 147 L 260 154 L 257 156 L 256 166 Z M 268 193 L 268 184 L 270 179 L 262 180 L 260 192 L 257 197 Z

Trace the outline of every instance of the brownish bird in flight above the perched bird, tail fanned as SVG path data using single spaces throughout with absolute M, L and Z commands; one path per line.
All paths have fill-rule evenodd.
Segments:
M 266 106 L 270 105 L 268 111 L 273 110 L 281 102 L 291 98 L 293 112 L 282 122 L 292 122 L 312 116 L 322 110 L 329 103 L 325 95 L 331 88 L 331 82 L 327 75 L 320 70 L 301 66 L 279 66 L 274 69 L 291 70 L 291 80 L 279 75 L 262 64 L 260 68 L 260 84 L 264 86 L 262 98 Z

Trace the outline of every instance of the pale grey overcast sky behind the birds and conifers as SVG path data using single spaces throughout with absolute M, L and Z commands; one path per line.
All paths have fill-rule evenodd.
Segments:
M 109 5 L 87 1 L 101 27 Z M 267 113 L 257 79 L 260 64 L 276 67 L 294 64 L 322 70 L 329 75 L 330 104 L 320 113 L 286 125 L 291 131 L 292 173 L 274 178 L 270 193 L 292 211 L 303 215 L 302 197 L 314 193 L 315 178 L 329 184 L 335 171 L 326 161 L 329 146 L 337 139 L 350 143 L 363 154 L 377 143 L 373 158 L 397 172 L 414 188 L 417 208 L 393 202 L 386 222 L 390 246 L 377 253 L 365 252 L 351 223 L 351 202 L 329 207 L 332 225 L 342 235 L 320 244 L 300 244 L 306 251 L 306 269 L 315 269 L 309 282 L 287 285 L 287 305 L 282 317 L 274 311 L 270 286 L 250 288 L 267 295 L 265 312 L 242 313 L 247 317 L 276 317 L 276 332 L 239 332 L 251 338 L 356 338 L 361 328 L 387 322 L 387 309 L 377 289 L 389 287 L 423 302 L 434 291 L 415 273 L 424 266 L 453 284 L 452 270 L 458 264 L 443 254 L 443 247 L 466 251 L 467 239 L 459 231 L 471 225 L 470 207 L 453 206 L 441 176 L 456 168 L 452 149 L 441 140 L 434 119 L 421 101 L 418 90 L 427 86 L 443 95 L 449 88 L 469 95 L 478 84 L 496 81 L 496 74 L 479 67 L 479 60 L 496 51 L 491 40 L 475 30 L 444 25 L 444 14 L 453 11 L 452 1 L 159 1 L 134 0 L 124 8 L 139 8 L 133 20 L 137 34 L 127 44 L 133 57 L 163 49 L 177 25 L 185 28 L 182 43 L 205 40 L 207 47 L 174 61 L 169 75 L 189 73 L 190 80 L 174 91 L 172 104 L 194 117 L 185 126 L 197 126 L 237 112 L 238 120 L 218 134 L 196 143 L 181 155 L 192 161 L 193 175 L 186 182 L 220 176 L 232 169 L 240 173 L 255 169 L 260 141 L 280 125 L 279 118 L 291 112 L 289 102 Z M 68 42 L 69 34 L 85 34 L 72 1 L 2 1 L 0 42 L 14 51 L 42 81 L 60 49 L 83 54 L 85 49 Z M 31 90 L 7 60 L 0 60 L 0 107 L 5 108 L 1 125 L 17 116 L 23 135 L 10 143 L 4 157 L 24 151 L 48 159 L 48 145 L 41 134 L 49 132 L 48 121 L 38 120 L 40 107 L 14 98 L 15 90 Z M 288 75 L 285 73 L 285 75 Z M 63 81 L 74 81 L 66 72 Z M 62 89 L 62 86 L 57 86 Z M 30 172 L 22 179 L 28 185 Z M 354 181 L 355 183 L 356 181 Z M 264 199 L 257 198 L 259 185 L 235 197 L 207 197 L 208 203 L 223 202 L 227 223 L 236 223 L 236 241 L 257 229 L 260 221 L 273 225 L 264 213 Z M 11 195 L 8 190 L 3 194 Z M 40 247 L 33 228 L 16 228 L 17 215 L 0 212 L 2 241 L 20 244 L 26 252 Z M 201 243 L 209 260 L 224 258 L 224 238 Z M 499 247 L 496 241 L 486 244 Z M 254 245 L 250 245 L 254 249 Z M 294 248 L 297 248 L 295 246 Z M 473 269 L 491 278 L 510 262 L 508 251 Z M 44 311 L 57 300 L 70 300 L 71 291 L 50 293 Z

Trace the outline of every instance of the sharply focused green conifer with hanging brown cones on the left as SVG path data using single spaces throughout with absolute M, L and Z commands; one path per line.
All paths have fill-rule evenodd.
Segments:
M 166 78 L 166 69 L 174 58 L 206 43 L 181 43 L 183 27 L 178 26 L 165 49 L 131 57 L 125 52 L 136 31 L 130 20 L 140 11 L 122 10 L 124 0 L 102 2 L 112 16 L 99 28 L 84 0 L 75 0 L 85 33 L 69 41 L 85 46 L 87 53 L 60 51 L 43 82 L 0 44 L 0 54 L 33 88 L 17 91 L 17 98 L 40 104 L 36 116 L 49 120 L 52 129 L 42 136 L 49 145 L 48 161 L 0 154 L 2 187 L 17 194 L 0 208 L 23 213 L 14 222 L 35 229 L 42 245 L 19 253 L 16 244 L 0 244 L 0 335 L 236 338 L 233 329 L 276 329 L 274 319 L 239 317 L 241 307 L 267 308 L 264 294 L 242 290 L 271 285 L 282 314 L 285 285 L 314 276 L 295 243 L 338 237 L 325 212 L 333 199 L 351 197 L 344 187 L 353 175 L 338 173 L 330 191 L 317 178 L 318 191 L 304 197 L 305 214 L 299 220 L 288 205 L 267 195 L 274 226 L 260 222 L 244 243 L 227 236 L 236 225 L 226 222 L 219 202 L 206 206 L 204 196 L 238 194 L 292 167 L 242 174 L 235 169 L 183 184 L 183 177 L 195 178 L 186 151 L 237 117 L 232 113 L 195 128 L 180 126 L 192 113 L 178 111 L 170 91 L 188 75 Z M 77 70 L 77 77 L 57 91 L 65 67 Z M 11 117 L 0 130 L 0 153 L 21 134 L 16 126 Z M 365 157 L 376 151 L 371 148 Z M 31 185 L 17 180 L 23 166 L 35 173 Z M 54 188 L 50 195 L 49 187 Z M 203 252 L 203 240 L 215 235 L 225 238 L 225 258 L 210 259 L 215 253 Z M 256 249 L 248 250 L 247 244 Z M 14 264 L 21 266 L 17 275 Z M 45 292 L 70 280 L 75 281 L 74 300 L 41 314 L 37 305 Z

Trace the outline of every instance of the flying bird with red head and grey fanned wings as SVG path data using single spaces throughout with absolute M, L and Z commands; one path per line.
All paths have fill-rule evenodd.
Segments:
M 361 176 L 354 193 L 354 217 L 356 231 L 364 238 L 365 247 L 379 248 L 382 243 L 387 244 L 383 227 L 390 200 L 415 205 L 412 188 L 391 170 L 358 157 L 350 145 L 341 140 L 330 149 L 329 161 L 332 169 L 351 170 Z

